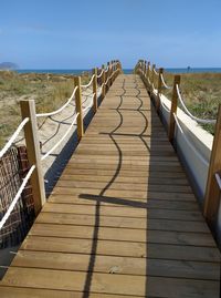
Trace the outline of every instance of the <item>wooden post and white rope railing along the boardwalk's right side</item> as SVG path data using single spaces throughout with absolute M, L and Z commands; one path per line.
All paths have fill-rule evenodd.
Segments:
M 158 113 L 160 110 L 160 105 L 164 104 L 161 101 L 162 90 L 171 90 L 171 106 L 170 109 L 166 107 L 170 113 L 170 120 L 168 125 L 168 140 L 170 142 L 172 142 L 175 137 L 176 124 L 179 125 L 179 120 L 177 117 L 178 102 L 180 103 L 186 114 L 198 123 L 217 123 L 209 162 L 206 194 L 203 198 L 203 215 L 211 229 L 214 230 L 217 225 L 219 206 L 221 204 L 221 105 L 219 106 L 217 120 L 198 119 L 193 116 L 185 105 L 180 92 L 180 75 L 175 75 L 173 85 L 168 86 L 164 79 L 164 69 L 159 68 L 158 71 L 156 71 L 156 65 L 152 64 L 151 66 L 150 62 L 147 62 L 145 60 L 138 61 L 137 65 L 135 66 L 135 73 L 139 74 L 141 80 L 144 81 L 147 91 L 150 94 L 150 97 L 154 100 L 154 104 Z M 189 142 L 192 148 L 197 152 L 197 150 L 193 147 L 193 144 L 191 144 L 191 141 L 187 138 L 187 142 Z

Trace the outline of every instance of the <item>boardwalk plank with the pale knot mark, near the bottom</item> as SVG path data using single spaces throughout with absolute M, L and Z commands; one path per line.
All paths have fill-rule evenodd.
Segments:
M 88 271 L 92 255 L 21 250 L 13 267 Z M 96 256 L 94 273 L 186 277 L 219 280 L 219 264 L 145 259 L 133 257 Z

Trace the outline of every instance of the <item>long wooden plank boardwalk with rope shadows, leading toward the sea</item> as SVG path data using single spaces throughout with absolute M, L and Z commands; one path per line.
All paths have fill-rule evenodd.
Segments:
M 119 75 L 0 297 L 207 297 L 220 254 L 138 76 Z

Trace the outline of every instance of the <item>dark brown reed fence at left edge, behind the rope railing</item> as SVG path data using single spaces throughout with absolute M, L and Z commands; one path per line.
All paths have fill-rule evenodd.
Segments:
M 0 160 L 0 219 L 29 171 L 25 146 L 11 147 Z M 23 240 L 34 219 L 34 205 L 30 183 L 27 184 L 13 212 L 0 230 L 0 248 L 14 246 Z

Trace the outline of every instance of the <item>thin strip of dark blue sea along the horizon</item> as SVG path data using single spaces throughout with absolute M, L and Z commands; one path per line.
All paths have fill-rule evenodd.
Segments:
M 125 74 L 133 73 L 133 69 L 124 69 L 123 70 Z M 170 69 L 166 68 L 165 71 L 170 73 L 221 73 L 221 68 L 177 68 L 177 69 Z M 50 69 L 33 69 L 33 70 L 17 70 L 18 73 L 52 73 L 52 74 L 74 74 L 80 75 L 83 72 L 91 72 L 88 69 L 81 69 L 81 70 L 50 70 Z

